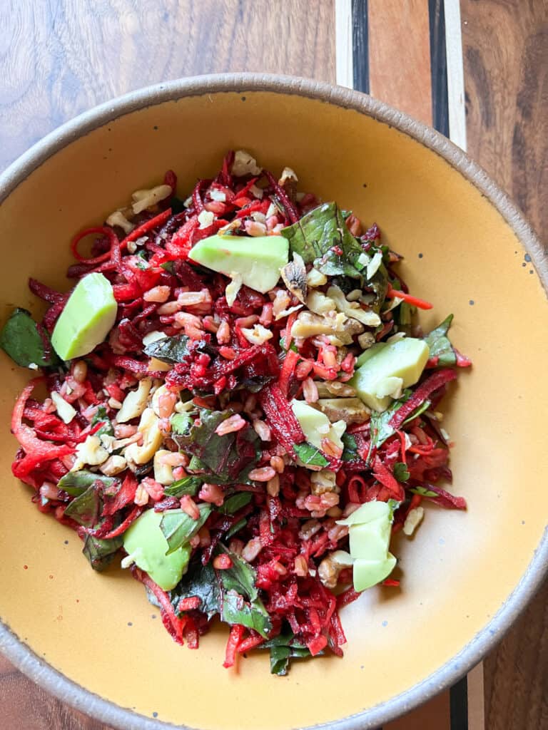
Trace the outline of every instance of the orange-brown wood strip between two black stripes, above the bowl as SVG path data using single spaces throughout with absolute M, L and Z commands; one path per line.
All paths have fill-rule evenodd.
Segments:
M 371 96 L 432 124 L 427 0 L 369 0 L 368 24 Z

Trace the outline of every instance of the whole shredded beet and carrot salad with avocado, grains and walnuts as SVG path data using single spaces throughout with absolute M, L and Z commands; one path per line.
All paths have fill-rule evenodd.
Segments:
M 12 471 L 93 569 L 145 585 L 176 642 L 218 617 L 224 666 L 264 648 L 283 675 L 342 656 L 340 608 L 398 589 L 390 539 L 428 502 L 465 509 L 440 401 L 470 361 L 452 315 L 422 331 L 432 305 L 378 226 L 292 169 L 239 150 L 188 199 L 176 186 L 77 234 L 68 293 L 29 281 L 44 317 L 17 309 L 0 334 L 36 371 Z

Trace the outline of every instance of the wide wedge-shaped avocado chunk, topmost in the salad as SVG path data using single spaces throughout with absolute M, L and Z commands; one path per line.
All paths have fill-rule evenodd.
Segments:
M 289 242 L 283 236 L 209 236 L 192 248 L 192 261 L 214 272 L 239 274 L 250 289 L 265 294 L 278 283 L 289 258 Z

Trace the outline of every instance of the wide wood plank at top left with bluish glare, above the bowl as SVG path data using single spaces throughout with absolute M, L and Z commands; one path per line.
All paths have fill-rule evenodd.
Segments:
M 335 82 L 333 13 L 331 0 L 0 3 L 0 169 L 80 112 L 161 81 L 259 71 Z

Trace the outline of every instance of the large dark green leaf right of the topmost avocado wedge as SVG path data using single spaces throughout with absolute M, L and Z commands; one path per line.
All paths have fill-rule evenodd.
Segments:
M 327 276 L 362 276 L 364 264 L 359 261 L 363 250 L 346 223 L 336 203 L 323 203 L 303 215 L 297 223 L 281 231 L 293 253 L 299 253 L 305 264 L 313 264 Z M 338 247 L 342 253 L 337 253 Z

